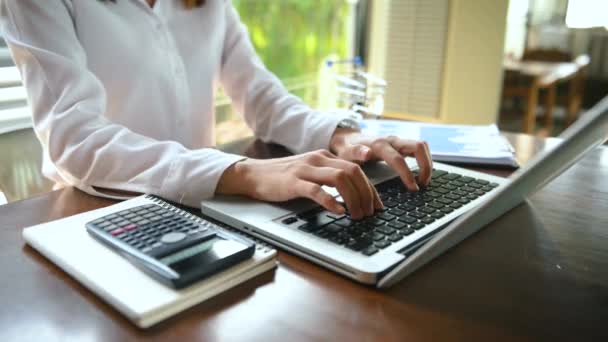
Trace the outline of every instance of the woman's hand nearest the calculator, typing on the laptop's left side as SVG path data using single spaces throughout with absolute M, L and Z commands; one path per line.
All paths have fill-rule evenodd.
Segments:
M 319 150 L 285 158 L 245 159 L 222 174 L 216 193 L 280 202 L 309 198 L 343 214 L 345 208 L 322 185 L 338 190 L 353 219 L 373 215 L 382 201 L 361 167 Z

